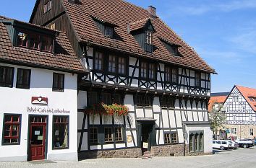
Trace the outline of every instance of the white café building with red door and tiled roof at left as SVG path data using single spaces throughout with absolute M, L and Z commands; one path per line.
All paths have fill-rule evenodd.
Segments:
M 0 16 L 0 162 L 77 161 L 77 76 L 65 32 Z

